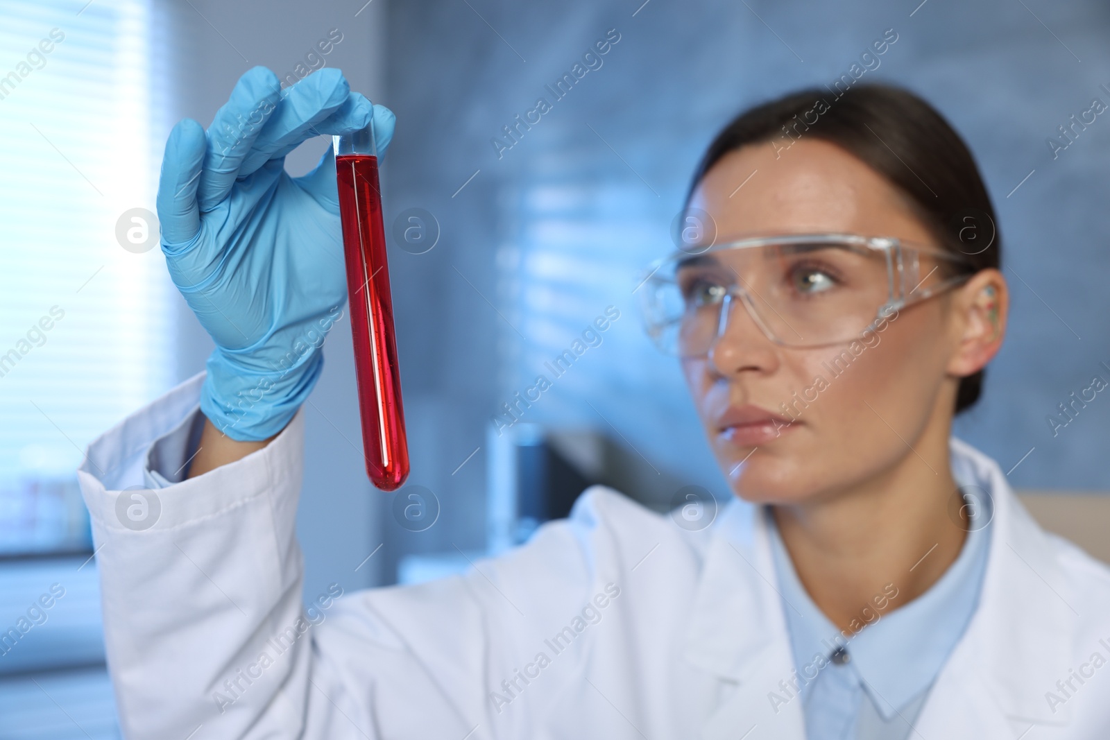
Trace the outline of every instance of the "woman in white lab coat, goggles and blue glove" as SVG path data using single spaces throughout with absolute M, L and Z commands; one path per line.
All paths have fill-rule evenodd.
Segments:
M 305 337 L 344 276 L 331 158 L 283 158 L 371 120 L 384 148 L 339 72 L 283 94 L 259 68 L 167 145 L 163 251 L 216 349 L 81 470 L 127 737 L 1104 737 L 1110 572 L 950 438 L 1006 328 L 999 244 L 967 231 L 990 200 L 892 88 L 737 118 L 688 200 L 715 237 L 638 288 L 736 500 L 593 487 L 464 576 L 303 614 Z

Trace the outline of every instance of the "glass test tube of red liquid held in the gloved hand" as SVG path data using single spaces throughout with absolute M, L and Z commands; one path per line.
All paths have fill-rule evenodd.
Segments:
M 373 125 L 333 136 L 332 141 L 366 473 L 377 488 L 395 490 L 408 477 L 408 442 L 401 406 Z

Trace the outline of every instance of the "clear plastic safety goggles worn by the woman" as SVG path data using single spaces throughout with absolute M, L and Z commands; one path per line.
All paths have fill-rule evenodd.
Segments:
M 946 264 L 947 263 L 947 264 Z M 756 236 L 689 246 L 657 260 L 637 292 L 648 335 L 667 354 L 705 355 L 733 304 L 789 347 L 846 344 L 896 311 L 966 282 L 960 254 L 857 234 Z

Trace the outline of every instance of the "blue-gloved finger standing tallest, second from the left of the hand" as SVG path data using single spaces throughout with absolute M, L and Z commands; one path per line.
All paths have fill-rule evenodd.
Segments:
M 198 191 L 202 212 L 215 207 L 235 184 L 243 159 L 250 154 L 280 99 L 281 83 L 266 68 L 255 67 L 239 78 L 208 129 L 208 153 Z

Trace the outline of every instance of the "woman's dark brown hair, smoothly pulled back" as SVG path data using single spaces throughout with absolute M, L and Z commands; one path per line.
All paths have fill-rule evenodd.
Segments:
M 702 156 L 686 203 L 729 152 L 765 142 L 781 152 L 806 138 L 838 145 L 908 196 L 937 243 L 963 255 L 950 274 L 999 267 L 998 220 L 967 144 L 932 105 L 894 85 L 859 84 L 839 95 L 810 88 L 744 111 Z M 982 381 L 983 371 L 960 379 L 957 414 L 979 399 Z

